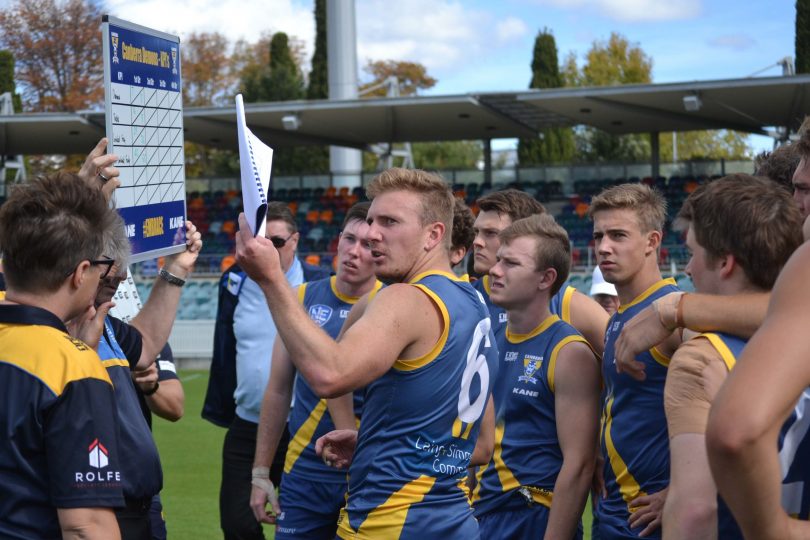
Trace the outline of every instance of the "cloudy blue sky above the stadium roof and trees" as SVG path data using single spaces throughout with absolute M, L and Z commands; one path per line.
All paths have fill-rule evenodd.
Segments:
M 0 4 L 2 4 L 0 0 Z M 311 55 L 312 0 L 108 0 L 110 13 L 181 37 L 219 31 L 255 40 L 265 31 L 301 39 Z M 794 54 L 793 0 L 356 0 L 358 64 L 410 60 L 438 84 L 429 94 L 528 86 L 534 37 L 549 28 L 560 61 L 580 63 L 617 31 L 653 59 L 653 81 L 779 75 Z M 771 66 L 771 67 L 769 67 Z M 768 68 L 768 69 L 766 69 Z M 361 72 L 361 77 L 362 77 Z M 770 139 L 752 137 L 755 149 Z M 506 141 L 498 144 L 504 147 Z

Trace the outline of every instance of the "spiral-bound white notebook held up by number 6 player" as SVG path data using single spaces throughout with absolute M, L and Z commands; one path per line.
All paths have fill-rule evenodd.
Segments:
M 264 236 L 273 149 L 248 129 L 242 94 L 236 96 L 236 126 L 239 133 L 239 168 L 242 173 L 242 205 L 245 208 L 245 217 L 254 236 Z

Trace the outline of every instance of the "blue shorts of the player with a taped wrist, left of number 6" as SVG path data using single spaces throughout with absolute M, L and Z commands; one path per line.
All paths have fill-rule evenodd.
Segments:
M 332 540 L 340 509 L 346 504 L 346 484 L 315 482 L 285 474 L 279 493 L 281 514 L 276 538 Z

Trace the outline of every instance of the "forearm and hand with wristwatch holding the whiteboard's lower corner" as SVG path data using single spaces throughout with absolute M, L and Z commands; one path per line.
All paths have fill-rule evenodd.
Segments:
M 180 279 L 186 279 L 194 269 L 194 263 L 202 249 L 202 236 L 190 221 L 186 221 L 186 250 L 170 257 L 165 269 Z M 143 369 L 155 361 L 169 340 L 182 288 L 158 278 L 149 294 L 149 299 L 140 313 L 130 321 L 143 337 L 141 358 L 137 368 Z

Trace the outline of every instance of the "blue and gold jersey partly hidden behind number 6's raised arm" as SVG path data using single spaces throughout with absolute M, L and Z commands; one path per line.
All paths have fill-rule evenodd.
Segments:
M 359 298 L 341 294 L 332 276 L 298 287 L 298 299 L 310 318 L 327 334 L 337 338 L 352 306 Z M 375 285 L 372 294 L 380 289 Z M 354 392 L 355 415 L 360 416 L 363 406 L 363 389 Z M 315 441 L 335 429 L 335 424 L 326 408 L 326 400 L 319 398 L 297 373 L 295 376 L 295 405 L 289 418 L 290 443 L 284 462 L 284 473 L 301 476 L 314 481 L 346 482 L 346 471 L 327 467 L 315 454 Z M 283 489 L 283 488 L 282 488 Z

